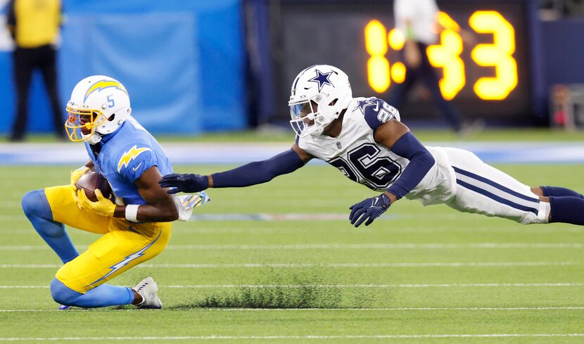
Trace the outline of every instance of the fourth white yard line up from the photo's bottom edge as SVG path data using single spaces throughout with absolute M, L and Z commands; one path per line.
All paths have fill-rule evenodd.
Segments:
M 558 267 L 581 265 L 578 262 L 392 262 L 392 263 L 239 263 L 239 264 L 141 264 L 137 267 L 224 269 L 224 268 L 280 268 L 302 269 L 311 267 Z M 56 269 L 57 264 L 2 264 L 2 269 Z

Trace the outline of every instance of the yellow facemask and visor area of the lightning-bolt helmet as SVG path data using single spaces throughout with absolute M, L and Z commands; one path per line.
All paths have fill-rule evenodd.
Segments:
M 85 141 L 95 134 L 95 128 L 106 122 L 100 110 L 67 107 L 65 131 L 73 142 Z

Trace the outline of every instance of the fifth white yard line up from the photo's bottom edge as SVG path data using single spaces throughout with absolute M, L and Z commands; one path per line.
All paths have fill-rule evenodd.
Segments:
M 77 248 L 87 248 L 80 245 Z M 474 248 L 584 248 L 581 243 L 306 243 L 289 245 L 169 245 L 166 250 L 373 250 L 373 249 L 474 249 Z M 0 250 L 50 250 L 46 245 L 3 245 Z

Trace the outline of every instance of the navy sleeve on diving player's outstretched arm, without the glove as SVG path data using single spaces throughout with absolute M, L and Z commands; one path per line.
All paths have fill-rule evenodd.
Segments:
M 233 170 L 213 173 L 214 188 L 229 188 L 262 184 L 281 174 L 287 174 L 304 166 L 298 153 L 292 149 L 272 158 L 248 163 Z

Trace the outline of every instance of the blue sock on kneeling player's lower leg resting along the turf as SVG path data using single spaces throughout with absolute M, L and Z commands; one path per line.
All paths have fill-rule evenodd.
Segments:
M 58 279 L 51 282 L 51 293 L 53 299 L 62 305 L 70 305 L 84 308 L 108 307 L 117 305 L 130 305 L 134 302 L 134 292 L 132 289 L 122 286 L 111 286 L 102 284 L 87 291 L 87 293 L 77 293 L 68 288 Z

